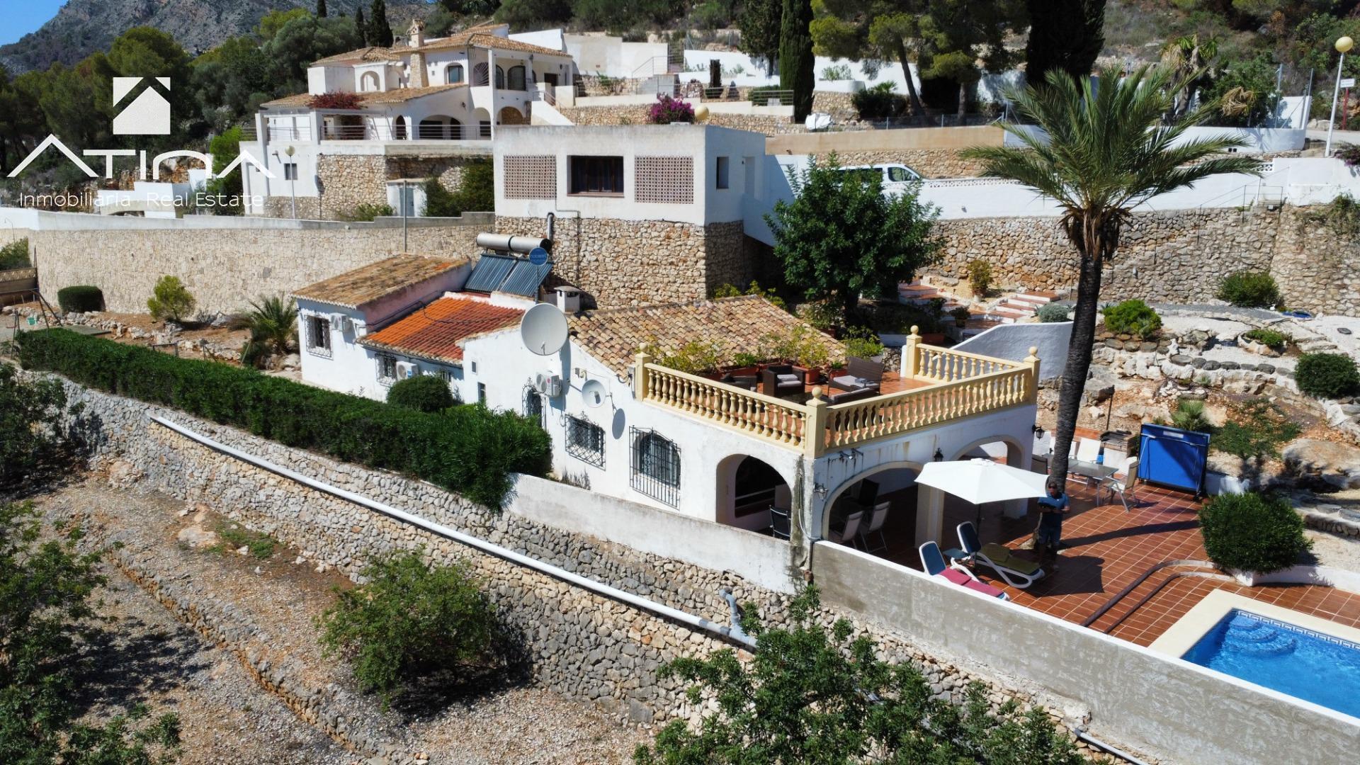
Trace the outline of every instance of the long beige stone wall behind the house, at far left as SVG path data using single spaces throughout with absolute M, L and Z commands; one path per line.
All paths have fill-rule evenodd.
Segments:
M 283 200 L 287 203 L 287 200 Z M 422 221 L 407 230 L 409 252 L 473 256 L 473 240 L 490 230 L 490 215 L 456 223 Z M 204 313 L 230 313 L 264 295 L 283 294 L 400 253 L 400 222 L 314 223 L 228 221 L 224 227 L 166 221 L 103 222 L 90 229 L 33 231 L 38 284 L 56 304 L 57 290 L 94 284 L 109 310 L 144 313 L 156 280 L 178 276 Z

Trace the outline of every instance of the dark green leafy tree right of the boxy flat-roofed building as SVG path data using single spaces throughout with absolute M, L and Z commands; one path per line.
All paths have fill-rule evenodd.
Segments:
M 804 286 L 805 298 L 835 301 L 849 317 L 861 294 L 895 293 L 937 257 L 936 211 L 917 189 L 885 196 L 877 174 L 846 173 L 835 155 L 790 182 L 794 200 L 777 201 L 766 222 L 786 282 Z

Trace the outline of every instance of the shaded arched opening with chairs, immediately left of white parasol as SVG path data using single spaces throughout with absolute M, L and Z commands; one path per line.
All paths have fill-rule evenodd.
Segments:
M 925 506 L 919 494 L 930 491 L 917 485 L 919 474 L 919 463 L 895 461 L 847 478 L 827 494 L 821 538 L 913 565 L 918 508 Z

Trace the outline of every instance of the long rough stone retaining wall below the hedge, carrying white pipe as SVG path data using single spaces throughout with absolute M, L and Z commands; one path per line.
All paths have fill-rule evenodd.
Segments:
M 264 471 L 154 423 L 147 415 L 167 417 L 303 475 L 718 623 L 725 623 L 729 615 L 726 602 L 718 595 L 722 587 L 730 588 L 740 602 L 756 603 L 766 623 L 786 623 L 786 596 L 752 587 L 728 572 L 702 569 L 515 515 L 495 513 L 419 481 L 336 463 L 182 412 L 61 381 L 72 403 L 84 404 L 78 426 L 90 437 L 92 467 L 114 466 L 124 481 L 140 481 L 147 489 L 204 502 L 253 531 L 311 551 L 314 559 L 356 580 L 371 555 L 396 550 L 424 550 L 441 564 L 466 559 L 486 580 L 499 613 L 522 640 L 522 656 L 530 663 L 537 683 L 570 697 L 593 700 L 631 720 L 698 720 L 702 705 L 690 704 L 677 683 L 658 679 L 656 671 L 662 662 L 681 655 L 706 656 L 725 644 L 709 633 L 692 632 Z M 147 587 L 158 592 L 160 585 Z M 201 626 L 204 619 L 194 617 L 194 608 L 208 611 L 193 604 L 192 593 L 167 592 L 162 602 L 189 623 L 207 630 L 205 634 L 216 640 L 233 638 L 230 633 L 219 636 L 211 632 L 214 628 Z M 830 623 L 840 615 L 828 610 L 821 621 Z M 1032 689 L 1017 687 L 1013 679 L 976 674 L 953 660 L 928 653 L 902 636 L 860 619 L 850 621 L 855 634 L 868 634 L 880 642 L 885 659 L 919 666 L 938 697 L 960 702 L 964 689 L 974 681 L 989 686 L 991 705 L 1012 698 L 1032 704 L 1039 697 Z M 268 667 L 249 662 L 248 666 L 288 698 L 290 687 L 282 682 L 286 672 L 276 678 Z M 1047 700 L 1050 705 L 1054 701 L 1068 720 L 1085 721 L 1088 713 L 1070 700 Z M 333 719 L 328 723 L 324 706 L 301 704 L 301 709 L 294 708 L 306 719 L 320 719 L 333 734 L 344 732 L 337 731 Z M 354 746 L 374 749 L 371 742 L 354 742 Z

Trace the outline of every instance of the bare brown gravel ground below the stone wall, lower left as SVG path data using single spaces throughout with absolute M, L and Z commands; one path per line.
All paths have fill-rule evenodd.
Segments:
M 343 663 L 321 656 L 314 619 L 335 598 L 332 587 L 347 587 L 348 581 L 335 572 L 317 572 L 316 564 L 305 559 L 306 551 L 279 546 L 268 559 L 257 559 L 230 551 L 189 549 L 175 540 L 182 530 L 211 531 L 218 524 L 230 525 L 230 521 L 203 505 L 186 508 L 169 497 L 110 489 L 98 476 L 73 482 L 45 497 L 42 504 L 49 513 L 92 517 L 97 538 L 117 539 L 135 555 L 154 559 L 171 577 L 192 581 L 194 591 L 204 598 L 227 603 L 238 618 L 260 630 L 253 637 L 253 648 L 275 666 L 290 667 L 306 686 L 330 693 L 335 704 L 344 709 L 351 731 L 363 730 L 370 739 L 390 743 L 394 750 L 418 760 L 460 765 L 626 762 L 636 743 L 650 739 L 649 732 L 624 727 L 589 704 L 533 687 L 495 687 L 422 713 L 385 713 L 373 697 L 358 693 Z M 189 512 L 181 515 L 185 510 Z M 128 600 L 132 592 L 141 592 L 121 577 L 117 581 L 129 588 Z M 144 596 L 144 602 L 147 610 L 159 610 L 163 619 L 174 621 L 150 596 Z M 186 746 L 186 762 L 345 761 L 343 757 L 328 758 L 337 749 L 333 745 L 326 750 L 302 749 L 305 743 L 294 742 L 305 739 L 267 732 L 271 726 L 282 724 L 273 716 L 265 717 L 265 709 L 272 708 L 264 704 L 265 700 L 258 704 L 245 700 L 273 697 L 254 685 L 228 653 L 220 653 L 216 660 L 201 662 L 204 666 L 196 672 L 230 675 L 230 681 L 220 682 L 239 683 L 242 689 L 234 694 L 222 693 L 222 702 L 228 705 L 215 715 L 204 715 L 193 732 L 186 723 L 185 739 L 196 749 L 189 754 Z M 250 686 L 249 693 L 245 686 Z M 233 700 L 234 706 L 230 705 Z M 298 735 L 316 731 L 292 716 L 282 702 L 275 701 L 273 706 L 299 730 Z M 258 736 L 252 734 L 254 730 L 260 731 Z M 313 739 L 322 736 L 321 732 L 310 735 Z M 256 738 L 260 742 L 250 743 Z M 231 743 L 219 743 L 220 739 L 231 739 Z M 267 745 L 275 749 L 261 750 L 258 757 L 249 753 L 237 755 L 230 749 L 218 751 L 219 746 Z M 288 754 L 292 750 L 296 757 Z M 352 761 L 355 755 L 348 754 L 348 758 Z

